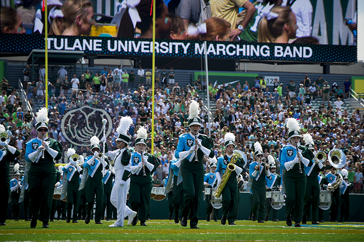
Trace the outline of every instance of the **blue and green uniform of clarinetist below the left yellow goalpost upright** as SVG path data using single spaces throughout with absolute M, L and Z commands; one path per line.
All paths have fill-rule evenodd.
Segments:
M 55 139 L 45 138 L 44 141 L 48 143 L 54 156 L 44 150 L 44 159 L 39 158 L 37 162 L 30 160 L 29 155 L 36 152 L 42 143 L 42 139 L 37 137 L 26 142 L 25 160 L 31 163 L 28 172 L 28 195 L 32 218 L 39 218 L 39 221 L 48 223 L 53 202 L 54 184 L 56 183 L 54 163 L 55 160 L 62 157 L 63 149 L 61 143 Z

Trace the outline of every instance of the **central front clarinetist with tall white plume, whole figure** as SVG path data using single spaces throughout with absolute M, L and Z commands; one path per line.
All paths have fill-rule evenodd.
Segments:
M 212 139 L 198 133 L 201 128 L 201 119 L 198 114 L 198 103 L 193 100 L 189 105 L 190 132 L 180 135 L 175 153 L 175 157 L 181 160 L 180 171 L 185 191 L 181 225 L 187 226 L 187 216 L 189 216 L 191 229 L 199 229 L 197 223 L 204 176 L 203 155 L 209 158 L 215 155 L 212 150 Z

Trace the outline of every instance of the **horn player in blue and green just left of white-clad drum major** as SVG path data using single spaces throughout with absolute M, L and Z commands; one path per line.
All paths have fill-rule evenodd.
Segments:
M 104 194 L 104 186 L 102 183 L 102 170 L 103 167 L 105 169 L 109 169 L 109 159 L 103 154 L 103 158 L 99 157 L 100 148 L 100 140 L 96 136 L 92 136 L 90 139 L 91 142 L 91 152 L 93 155 L 87 156 L 85 159 L 85 163 L 83 164 L 83 168 L 87 169 L 88 174 L 83 172 L 83 175 L 88 176 L 86 178 L 86 219 L 85 223 L 90 223 L 91 218 L 91 210 L 94 207 L 95 203 L 95 195 L 96 195 L 96 210 L 95 210 L 95 224 L 102 224 L 102 209 L 103 209 L 103 194 Z M 105 150 L 107 152 L 107 149 Z

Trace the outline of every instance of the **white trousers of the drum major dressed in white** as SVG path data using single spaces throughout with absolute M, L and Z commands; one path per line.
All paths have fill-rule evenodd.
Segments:
M 124 218 L 131 215 L 133 210 L 131 210 L 126 205 L 128 188 L 130 186 L 130 178 L 126 181 L 124 186 L 120 186 L 120 180 L 123 177 L 124 170 L 115 171 L 115 184 L 113 190 L 111 191 L 110 202 L 117 209 L 118 219 L 115 224 L 119 226 L 124 226 Z

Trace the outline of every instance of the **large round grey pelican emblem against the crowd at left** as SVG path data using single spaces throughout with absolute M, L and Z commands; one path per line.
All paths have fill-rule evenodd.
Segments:
M 112 129 L 112 120 L 105 110 L 88 106 L 71 110 L 62 119 L 62 134 L 74 145 L 89 146 L 92 136 L 96 135 L 99 139 L 103 136 L 103 119 L 108 121 L 105 127 L 108 137 Z

